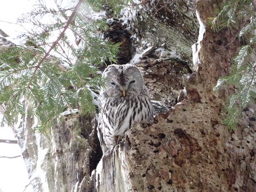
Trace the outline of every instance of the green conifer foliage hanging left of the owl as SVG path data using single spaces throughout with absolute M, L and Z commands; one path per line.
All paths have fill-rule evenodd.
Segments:
M 18 115 L 30 112 L 39 119 L 40 130 L 53 126 L 53 119 L 63 111 L 94 111 L 88 87 L 104 84 L 96 66 L 115 62 L 119 47 L 97 35 L 108 26 L 105 20 L 86 15 L 92 10 L 87 1 L 75 1 L 65 9 L 58 1 L 52 1 L 57 9 L 49 9 L 46 2 L 39 1 L 20 19 L 34 25 L 26 34 L 26 45 L 14 45 L 0 54 L 3 122 L 14 123 Z M 24 108 L 24 101 L 30 101 L 31 110 Z

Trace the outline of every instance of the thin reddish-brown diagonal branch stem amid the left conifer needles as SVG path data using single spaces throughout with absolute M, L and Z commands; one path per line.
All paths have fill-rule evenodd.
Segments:
M 65 24 L 63 31 L 61 32 L 61 34 L 59 35 L 59 37 L 57 37 L 56 41 L 53 42 L 52 46 L 49 48 L 48 52 L 46 53 L 46 55 L 44 55 L 44 57 L 38 62 L 38 65 L 36 65 L 36 68 L 34 70 L 34 73 L 32 74 L 32 77 L 30 78 L 30 82 L 28 82 L 27 87 L 30 87 L 33 78 L 35 77 L 36 71 L 40 68 L 40 65 L 42 65 L 43 61 L 46 60 L 46 58 L 48 57 L 49 53 L 52 51 L 53 48 L 55 48 L 55 46 L 57 45 L 57 43 L 59 43 L 59 40 L 64 36 L 65 31 L 67 30 L 69 24 L 71 24 L 73 17 L 76 15 L 76 12 L 79 10 L 79 7 L 81 6 L 81 3 L 84 0 L 80 0 L 75 9 L 73 10 L 71 16 L 69 16 L 69 19 L 67 21 L 67 23 Z

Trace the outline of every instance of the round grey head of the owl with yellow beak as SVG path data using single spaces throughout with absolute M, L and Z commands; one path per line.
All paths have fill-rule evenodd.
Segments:
M 106 78 L 103 91 L 109 97 L 139 95 L 144 87 L 142 74 L 134 65 L 109 65 L 102 76 Z

